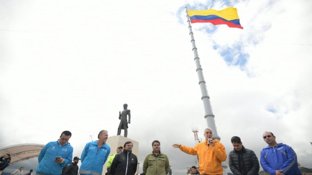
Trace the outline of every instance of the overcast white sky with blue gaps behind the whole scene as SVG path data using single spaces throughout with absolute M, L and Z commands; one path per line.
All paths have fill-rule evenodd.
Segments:
M 192 24 L 227 154 L 237 135 L 260 158 L 271 131 L 312 168 L 309 0 L 0 0 L 0 147 L 46 144 L 70 130 L 80 156 L 90 135 L 117 134 L 128 103 L 139 162 L 159 140 L 173 173 L 185 174 L 195 158 L 171 145 L 193 147 L 192 126 L 202 139 L 207 127 L 185 3 L 236 7 L 244 27 Z M 35 169 L 37 159 L 16 167 L 26 163 Z

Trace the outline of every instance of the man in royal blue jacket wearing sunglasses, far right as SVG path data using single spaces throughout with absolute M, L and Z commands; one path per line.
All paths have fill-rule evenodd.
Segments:
M 271 132 L 262 135 L 268 146 L 260 153 L 260 163 L 264 171 L 274 175 L 301 175 L 297 155 L 288 145 L 276 143 Z

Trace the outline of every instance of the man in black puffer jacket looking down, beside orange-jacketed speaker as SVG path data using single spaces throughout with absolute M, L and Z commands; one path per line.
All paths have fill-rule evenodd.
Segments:
M 229 167 L 234 175 L 258 175 L 259 161 L 256 154 L 246 149 L 241 142 L 241 138 L 233 136 L 231 138 L 234 150 L 229 154 Z

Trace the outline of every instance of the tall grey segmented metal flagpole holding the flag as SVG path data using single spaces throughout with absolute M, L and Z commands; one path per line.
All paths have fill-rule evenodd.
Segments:
M 197 48 L 196 48 L 196 45 L 195 45 L 195 40 L 194 40 L 194 36 L 193 36 L 191 21 L 190 21 L 190 17 L 188 16 L 188 9 L 187 9 L 186 6 L 184 8 L 185 8 L 186 17 L 187 17 L 187 20 L 188 20 L 187 21 L 188 22 L 188 30 L 190 31 L 189 35 L 191 37 L 191 43 L 192 43 L 192 47 L 193 47 L 192 50 L 193 50 L 193 53 L 194 53 L 194 61 L 195 61 L 195 64 L 196 64 L 196 72 L 197 72 L 198 79 L 199 79 L 199 83 L 198 84 L 199 84 L 200 90 L 202 92 L 202 102 L 204 103 L 204 109 L 205 109 L 205 116 L 204 116 L 204 118 L 207 121 L 208 127 L 211 128 L 212 131 L 213 131 L 213 138 L 217 139 L 217 140 L 220 140 L 221 138 L 219 137 L 218 132 L 217 132 L 216 122 L 214 120 L 215 116 L 212 113 L 212 108 L 211 108 L 211 104 L 210 104 L 210 97 L 209 97 L 208 92 L 207 92 L 206 82 L 204 80 L 204 75 L 202 74 L 202 66 L 200 64 L 199 57 L 198 57 L 198 54 L 197 54 Z

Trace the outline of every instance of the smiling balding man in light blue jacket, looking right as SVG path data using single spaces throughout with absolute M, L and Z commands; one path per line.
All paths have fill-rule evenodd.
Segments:
M 110 155 L 110 146 L 105 142 L 108 138 L 107 130 L 101 130 L 97 141 L 89 142 L 81 154 L 80 174 L 102 175 L 103 165 Z

